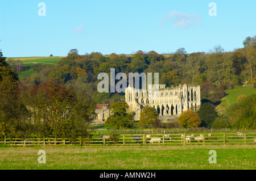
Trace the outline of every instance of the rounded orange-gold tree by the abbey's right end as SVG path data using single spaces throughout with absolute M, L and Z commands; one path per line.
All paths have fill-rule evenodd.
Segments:
M 200 123 L 200 117 L 192 110 L 181 113 L 178 119 L 178 124 L 181 128 L 196 128 L 199 127 Z

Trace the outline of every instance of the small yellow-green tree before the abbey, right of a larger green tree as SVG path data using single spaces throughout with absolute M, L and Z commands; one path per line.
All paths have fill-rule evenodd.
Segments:
M 141 117 L 139 118 L 139 124 L 142 126 L 147 125 L 149 127 L 150 124 L 153 124 L 155 119 L 158 118 L 158 112 L 152 107 L 145 107 L 141 112 Z

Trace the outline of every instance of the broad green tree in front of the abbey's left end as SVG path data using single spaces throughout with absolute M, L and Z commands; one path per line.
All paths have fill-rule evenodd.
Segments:
M 129 108 L 126 102 L 113 103 L 110 107 L 111 114 L 105 122 L 105 125 L 110 125 L 115 129 L 133 127 L 133 116 L 127 113 Z

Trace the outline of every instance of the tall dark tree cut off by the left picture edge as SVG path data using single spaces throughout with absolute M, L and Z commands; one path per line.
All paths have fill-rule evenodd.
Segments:
M 19 137 L 28 111 L 19 97 L 18 74 L 5 60 L 0 50 L 0 136 Z

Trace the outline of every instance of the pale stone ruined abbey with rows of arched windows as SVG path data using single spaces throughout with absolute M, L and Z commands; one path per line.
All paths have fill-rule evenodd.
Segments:
M 158 86 L 158 89 L 155 89 Z M 139 120 L 143 107 L 154 107 L 159 113 L 159 119 L 168 120 L 179 116 L 189 108 L 198 110 L 200 102 L 200 86 L 179 85 L 167 87 L 166 85 L 148 85 L 153 89 L 141 90 L 134 87 L 126 88 L 125 101 L 129 111 L 134 111 L 134 120 Z

